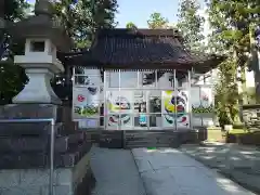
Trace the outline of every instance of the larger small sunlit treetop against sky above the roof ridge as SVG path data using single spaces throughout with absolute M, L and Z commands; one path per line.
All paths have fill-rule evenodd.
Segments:
M 168 25 L 168 20 L 162 17 L 160 13 L 152 13 L 150 20 L 147 21 L 148 28 L 156 29 L 156 28 L 166 28 Z

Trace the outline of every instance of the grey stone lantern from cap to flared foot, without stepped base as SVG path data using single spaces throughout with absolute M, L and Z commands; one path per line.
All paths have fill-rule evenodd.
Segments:
M 55 74 L 64 72 L 56 50 L 68 51 L 70 38 L 53 18 L 52 4 L 48 0 L 37 1 L 35 16 L 15 23 L 9 30 L 14 39 L 25 42 L 25 53 L 16 55 L 14 63 L 24 67 L 29 78 L 13 103 L 61 104 L 50 80 Z

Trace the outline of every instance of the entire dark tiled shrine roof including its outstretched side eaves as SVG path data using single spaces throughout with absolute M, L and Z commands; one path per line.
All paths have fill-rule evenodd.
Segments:
M 75 65 L 140 69 L 209 68 L 209 63 L 219 63 L 211 55 L 187 52 L 173 29 L 103 29 L 90 51 L 76 58 Z

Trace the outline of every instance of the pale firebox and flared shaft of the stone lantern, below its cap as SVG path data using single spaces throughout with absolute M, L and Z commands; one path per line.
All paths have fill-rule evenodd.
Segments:
M 38 44 L 42 47 L 37 48 L 41 52 L 34 50 Z M 16 55 L 14 63 L 24 67 L 29 78 L 25 88 L 13 99 L 14 103 L 62 103 L 53 92 L 50 80 L 54 74 L 64 72 L 64 67 L 49 39 L 26 40 L 25 55 Z

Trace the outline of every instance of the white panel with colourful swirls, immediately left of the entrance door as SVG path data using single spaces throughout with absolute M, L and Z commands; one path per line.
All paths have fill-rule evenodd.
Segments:
M 131 91 L 107 91 L 107 127 L 121 129 L 132 127 L 133 93 Z

